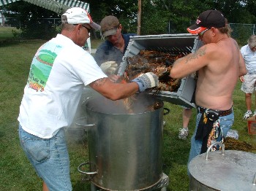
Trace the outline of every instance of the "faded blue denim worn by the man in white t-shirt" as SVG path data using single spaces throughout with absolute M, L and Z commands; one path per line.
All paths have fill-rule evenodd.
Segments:
M 42 139 L 27 133 L 19 125 L 19 136 L 23 151 L 48 189 L 72 190 L 64 129 L 50 139 Z

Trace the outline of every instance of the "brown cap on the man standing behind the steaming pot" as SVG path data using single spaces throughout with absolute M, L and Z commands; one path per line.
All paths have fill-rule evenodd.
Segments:
M 119 26 L 119 20 L 117 17 L 110 15 L 104 17 L 99 25 L 101 27 L 103 36 L 107 37 L 116 34 L 116 30 Z

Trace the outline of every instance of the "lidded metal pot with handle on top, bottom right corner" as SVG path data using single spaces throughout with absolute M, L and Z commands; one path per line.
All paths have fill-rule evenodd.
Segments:
M 225 151 L 222 145 L 222 152 L 207 151 L 191 160 L 189 190 L 256 190 L 255 164 L 254 153 Z

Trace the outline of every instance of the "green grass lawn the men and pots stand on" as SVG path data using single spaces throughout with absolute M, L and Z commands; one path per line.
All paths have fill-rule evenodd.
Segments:
M 0 45 L 0 190 L 3 191 L 42 190 L 42 181 L 37 177 L 20 148 L 17 117 L 31 60 L 44 42 L 41 40 L 4 42 Z M 239 140 L 255 146 L 255 136 L 248 135 L 246 121 L 242 120 L 246 106 L 240 86 L 241 82 L 238 82 L 233 94 L 235 112 L 233 129 L 238 130 Z M 166 125 L 162 153 L 163 172 L 170 179 L 167 190 L 185 191 L 189 189 L 187 159 L 190 149 L 189 139 L 195 129 L 196 111 L 193 109 L 192 119 L 189 122 L 189 139 L 181 140 L 178 139 L 178 128 L 181 128 L 182 108 L 167 102 L 165 107 L 170 109 L 170 113 L 164 116 Z M 252 108 L 255 108 L 255 105 Z M 84 181 L 84 176 L 77 170 L 80 163 L 88 160 L 86 139 L 84 141 L 69 139 L 68 146 L 73 190 L 90 190 L 90 184 Z

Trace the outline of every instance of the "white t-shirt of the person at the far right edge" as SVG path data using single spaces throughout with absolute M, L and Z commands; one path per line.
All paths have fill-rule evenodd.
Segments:
M 241 47 L 241 54 L 244 57 L 244 62 L 246 64 L 247 74 L 256 74 L 256 52 L 253 52 L 249 45 Z

